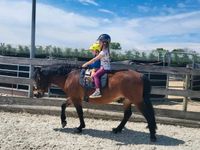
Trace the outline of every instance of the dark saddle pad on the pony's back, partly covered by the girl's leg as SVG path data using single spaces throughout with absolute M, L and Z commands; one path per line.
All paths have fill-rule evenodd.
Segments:
M 81 70 L 79 83 L 86 89 L 95 89 L 94 82 L 87 80 L 85 78 L 85 71 L 86 71 L 86 69 Z M 107 73 L 105 73 L 104 75 L 101 76 L 101 79 L 100 79 L 101 80 L 101 88 L 104 88 L 107 85 L 107 79 L 108 79 Z

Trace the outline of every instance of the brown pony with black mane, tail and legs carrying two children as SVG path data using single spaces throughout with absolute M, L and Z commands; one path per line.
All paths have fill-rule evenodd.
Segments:
M 73 104 L 76 108 L 80 125 L 75 129 L 81 133 L 85 128 L 82 102 L 85 95 L 90 95 L 93 90 L 85 90 L 79 83 L 81 67 L 75 64 L 57 64 L 35 68 L 33 73 L 33 94 L 40 98 L 47 92 L 51 84 L 57 85 L 66 93 L 66 101 L 61 105 L 61 124 L 64 128 L 67 124 L 65 109 Z M 119 133 L 132 115 L 131 105 L 142 113 L 147 121 L 150 132 L 150 141 L 156 141 L 156 121 L 152 103 L 150 101 L 151 84 L 149 79 L 134 70 L 119 70 L 108 73 L 107 86 L 101 89 L 102 97 L 88 99 L 89 103 L 106 104 L 118 98 L 123 98 L 124 116 L 120 124 L 113 128 L 113 133 Z

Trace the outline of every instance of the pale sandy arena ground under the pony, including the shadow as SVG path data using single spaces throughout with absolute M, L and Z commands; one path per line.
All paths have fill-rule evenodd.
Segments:
M 77 118 L 68 118 L 62 129 L 58 116 L 0 112 L 1 150 L 198 150 L 200 130 L 158 124 L 157 142 L 149 142 L 145 123 L 128 122 L 122 133 L 113 134 L 119 121 L 85 119 L 86 129 L 74 133 Z

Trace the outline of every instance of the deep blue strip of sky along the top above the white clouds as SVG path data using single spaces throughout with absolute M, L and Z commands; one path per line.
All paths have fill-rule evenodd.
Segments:
M 68 11 L 94 17 L 137 18 L 199 10 L 200 0 L 40 0 Z

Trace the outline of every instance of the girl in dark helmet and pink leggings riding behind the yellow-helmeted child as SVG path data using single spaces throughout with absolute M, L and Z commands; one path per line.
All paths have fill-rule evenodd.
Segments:
M 93 79 L 95 83 L 95 92 L 89 96 L 89 98 L 98 98 L 101 97 L 100 92 L 100 77 L 106 73 L 108 70 L 110 70 L 110 51 L 109 51 L 109 45 L 111 42 L 111 38 L 108 34 L 101 34 L 99 38 L 97 39 L 100 44 L 101 52 L 90 61 L 83 64 L 82 67 L 87 67 L 88 65 L 96 62 L 97 60 L 101 61 L 101 67 L 93 74 Z

